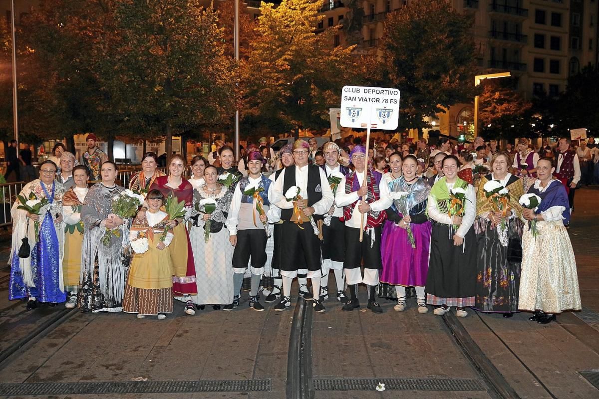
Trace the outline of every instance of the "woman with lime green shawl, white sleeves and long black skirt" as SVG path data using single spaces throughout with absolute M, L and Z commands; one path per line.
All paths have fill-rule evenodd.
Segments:
M 455 156 L 443 159 L 444 177 L 431 189 L 428 216 L 434 221 L 431 257 L 426 278 L 426 303 L 444 315 L 456 306 L 456 316 L 465 317 L 465 307 L 474 306 L 476 295 L 476 215 L 474 187 L 458 178 Z

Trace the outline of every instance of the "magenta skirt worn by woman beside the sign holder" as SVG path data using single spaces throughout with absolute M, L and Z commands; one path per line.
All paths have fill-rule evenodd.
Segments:
M 410 224 L 416 248 L 412 248 L 406 229 L 387 221 L 383 227 L 380 252 L 383 270 L 380 282 L 405 287 L 423 287 L 428 273 L 431 222 Z

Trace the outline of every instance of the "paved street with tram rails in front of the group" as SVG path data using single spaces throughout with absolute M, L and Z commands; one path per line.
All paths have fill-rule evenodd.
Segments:
M 382 299 L 383 315 L 341 312 L 334 300 L 326 313 L 294 312 L 295 303 L 286 312 L 270 304 L 254 312 L 247 293 L 232 312 L 207 307 L 186 316 L 176 303 L 164 321 L 62 306 L 26 312 L 24 303 L 7 300 L 2 270 L 0 351 L 12 355 L 0 357 L 0 396 L 28 397 L 32 391 L 19 389 L 37 387 L 40 398 L 597 398 L 580 371 L 599 370 L 598 198 L 599 190 L 579 190 L 570 229 L 584 310 L 548 325 L 528 321 L 527 313 L 421 315 L 413 300 L 394 312 Z M 365 305 L 365 290 L 360 296 Z M 494 388 L 489 367 L 512 394 Z M 377 392 L 385 380 L 387 389 Z

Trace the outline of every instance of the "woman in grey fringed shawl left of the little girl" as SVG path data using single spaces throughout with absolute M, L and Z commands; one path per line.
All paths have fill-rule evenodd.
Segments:
M 83 220 L 83 247 L 81 248 L 81 282 L 77 306 L 81 312 L 120 312 L 125 293 L 125 265 L 129 263 L 123 246 L 129 243 L 129 219 L 113 213 L 115 197 L 125 191 L 114 181 L 119 169 L 112 161 L 105 161 L 99 169 L 101 182 L 94 184 L 81 206 Z M 108 244 L 102 238 L 108 230 Z

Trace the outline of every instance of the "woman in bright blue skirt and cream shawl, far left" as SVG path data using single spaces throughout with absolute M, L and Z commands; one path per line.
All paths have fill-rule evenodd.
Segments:
M 38 302 L 56 304 L 66 300 L 62 282 L 62 196 L 64 187 L 55 181 L 58 167 L 52 161 L 40 165 L 40 178 L 29 182 L 19 193 L 13 207 L 13 243 L 11 246 L 8 299 L 28 298 L 27 309 Z M 18 209 L 44 205 L 38 212 Z

